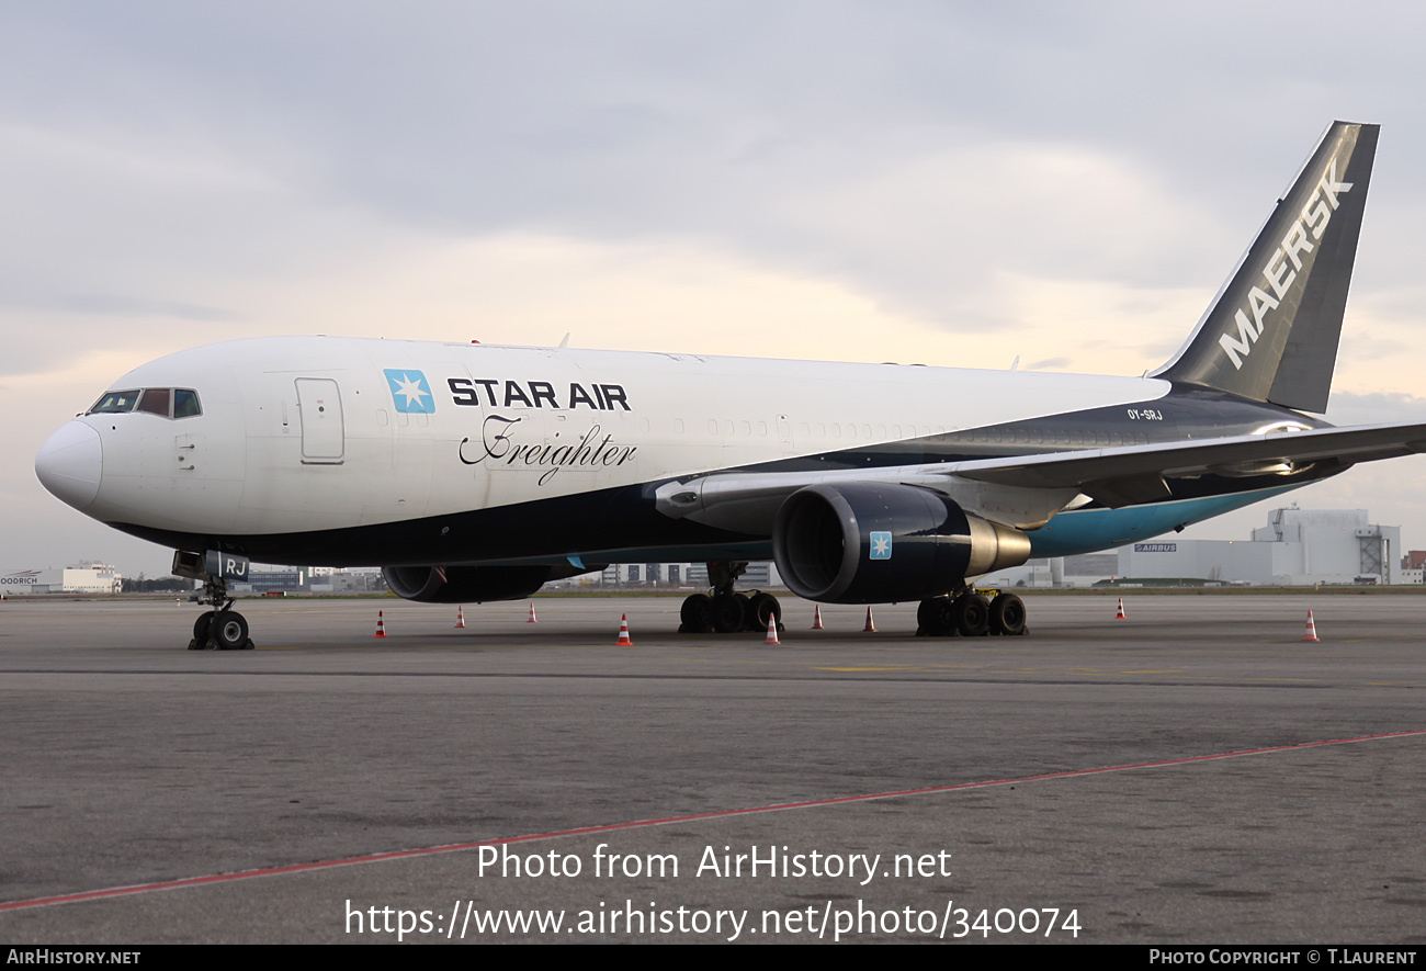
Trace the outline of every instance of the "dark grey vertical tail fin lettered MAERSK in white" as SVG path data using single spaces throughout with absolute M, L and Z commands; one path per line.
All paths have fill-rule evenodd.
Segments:
M 1332 123 L 1188 344 L 1154 376 L 1326 411 L 1379 131 Z

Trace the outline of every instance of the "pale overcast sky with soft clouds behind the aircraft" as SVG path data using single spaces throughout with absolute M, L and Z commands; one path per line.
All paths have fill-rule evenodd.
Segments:
M 1426 419 L 1426 13 L 1298 3 L 0 7 L 0 570 L 170 550 L 33 456 L 262 334 L 1141 374 L 1333 118 L 1382 140 L 1329 419 Z M 1426 458 L 1293 495 L 1426 546 Z M 1188 536 L 1246 538 L 1253 508 Z

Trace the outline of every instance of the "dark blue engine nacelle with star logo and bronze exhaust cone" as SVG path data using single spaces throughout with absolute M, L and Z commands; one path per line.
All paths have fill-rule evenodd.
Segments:
M 799 489 L 777 512 L 773 556 L 793 593 L 824 603 L 924 600 L 1030 559 L 1018 529 L 943 495 L 878 482 Z

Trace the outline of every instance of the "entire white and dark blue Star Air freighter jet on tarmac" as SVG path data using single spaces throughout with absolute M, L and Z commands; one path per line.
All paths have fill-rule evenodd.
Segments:
M 1022 633 L 971 580 L 1181 529 L 1426 451 L 1326 409 L 1378 125 L 1333 123 L 1184 348 L 1142 378 L 328 336 L 232 341 L 120 378 L 40 449 L 56 496 L 173 546 L 251 646 L 248 560 L 381 565 L 404 597 L 525 597 L 607 563 L 703 560 L 683 630 L 763 629 L 734 593 L 920 600 L 925 633 Z

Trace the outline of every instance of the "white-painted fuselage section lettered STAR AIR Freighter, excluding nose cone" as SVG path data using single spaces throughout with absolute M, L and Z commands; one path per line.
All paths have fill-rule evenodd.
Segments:
M 77 418 L 103 465 L 80 508 L 181 533 L 272 535 L 888 446 L 1155 401 L 1169 382 L 305 336 L 173 354 L 113 385 L 143 388 L 194 389 L 201 413 Z

